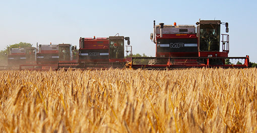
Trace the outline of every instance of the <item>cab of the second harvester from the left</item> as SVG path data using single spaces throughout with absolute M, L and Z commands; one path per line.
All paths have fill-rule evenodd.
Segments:
M 59 62 L 73 60 L 71 44 L 58 44 L 58 50 Z

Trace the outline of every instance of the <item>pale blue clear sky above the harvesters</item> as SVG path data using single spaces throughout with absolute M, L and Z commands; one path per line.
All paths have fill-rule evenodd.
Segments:
M 133 53 L 155 56 L 150 40 L 157 24 L 195 25 L 201 20 L 229 23 L 229 57 L 257 62 L 257 1 L 55 1 L 0 0 L 0 50 L 20 42 L 70 43 L 80 37 L 130 37 Z M 221 33 L 225 34 L 222 25 Z

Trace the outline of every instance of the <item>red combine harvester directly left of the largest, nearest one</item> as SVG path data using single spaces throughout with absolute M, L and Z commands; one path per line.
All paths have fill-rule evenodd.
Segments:
M 130 45 L 130 38 L 123 36 L 80 38 L 78 62 L 58 63 L 57 69 L 122 68 L 127 61 L 131 61 L 131 58 L 124 58 L 124 40 L 127 40 L 127 44 Z M 130 47 L 130 50 L 128 50 L 128 47 Z M 132 55 L 132 46 L 126 46 L 126 53 Z

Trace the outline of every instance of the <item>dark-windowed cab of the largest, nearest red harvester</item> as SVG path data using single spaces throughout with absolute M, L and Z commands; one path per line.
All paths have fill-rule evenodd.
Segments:
M 228 57 L 229 35 L 220 34 L 220 25 L 225 25 L 228 32 L 228 23 L 220 20 L 200 20 L 196 24 L 199 57 Z M 222 52 L 220 52 L 220 41 Z

